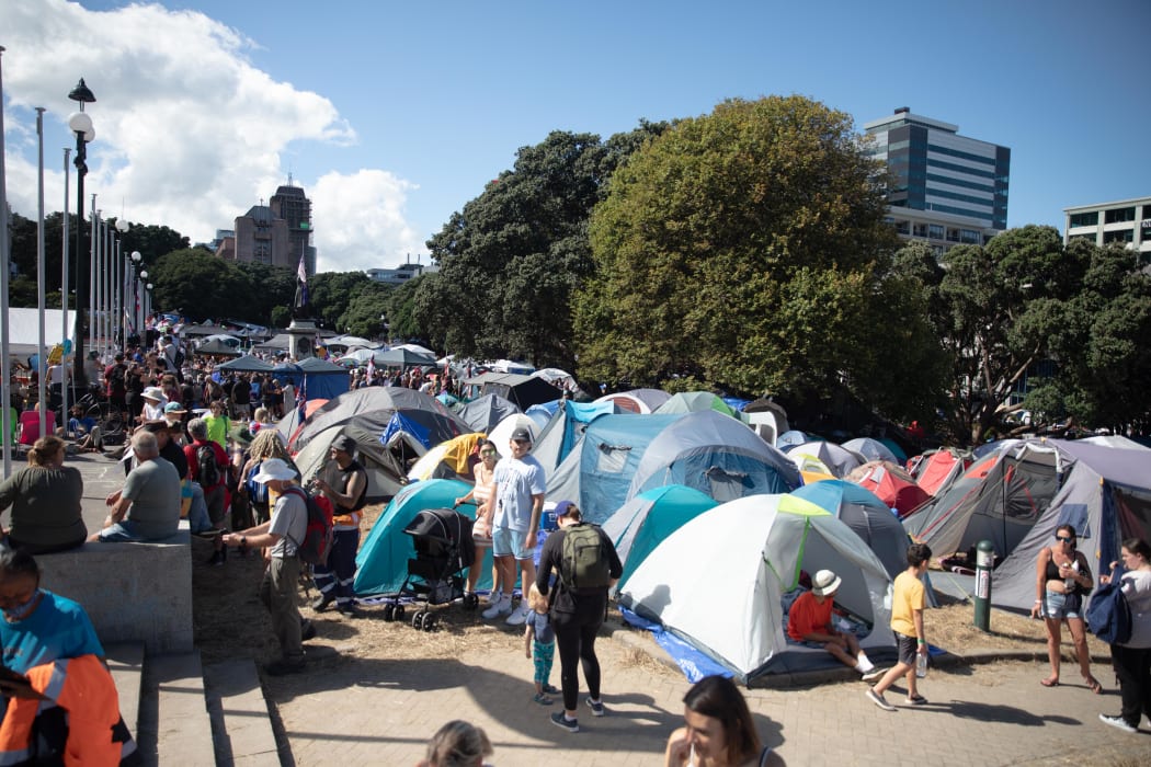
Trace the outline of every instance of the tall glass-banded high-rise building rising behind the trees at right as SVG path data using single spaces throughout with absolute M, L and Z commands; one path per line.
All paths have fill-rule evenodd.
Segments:
M 887 163 L 889 220 L 905 239 L 937 254 L 982 245 L 1007 229 L 1011 149 L 959 135 L 959 125 L 907 107 L 863 124 L 871 154 Z

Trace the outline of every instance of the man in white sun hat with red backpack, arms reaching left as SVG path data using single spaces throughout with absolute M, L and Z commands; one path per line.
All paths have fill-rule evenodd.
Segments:
M 269 458 L 252 480 L 279 497 L 272 519 L 254 528 L 223 536 L 224 544 L 249 549 L 268 549 L 268 566 L 260 582 L 260 600 L 272 616 L 272 631 L 280 643 L 280 658 L 264 666 L 272 676 L 298 674 L 304 670 L 304 631 L 297 604 L 300 560 L 299 542 L 307 534 L 307 501 L 290 491 L 296 471 L 279 458 Z

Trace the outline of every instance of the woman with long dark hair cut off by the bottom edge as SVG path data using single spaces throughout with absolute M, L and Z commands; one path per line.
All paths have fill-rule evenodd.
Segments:
M 761 767 L 783 765 L 764 747 L 752 712 L 735 683 L 704 676 L 684 696 L 684 727 L 668 738 L 666 767 Z

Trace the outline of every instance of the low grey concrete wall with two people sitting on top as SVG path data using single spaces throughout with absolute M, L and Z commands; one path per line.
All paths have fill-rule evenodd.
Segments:
M 75 599 L 105 645 L 143 642 L 151 654 L 192 650 L 188 522 L 161 543 L 87 543 L 36 558 L 40 584 Z

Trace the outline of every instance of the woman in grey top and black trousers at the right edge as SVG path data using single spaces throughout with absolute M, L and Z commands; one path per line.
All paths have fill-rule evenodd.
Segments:
M 1151 546 L 1142 538 L 1128 538 L 1122 560 L 1127 572 L 1119 576 L 1119 583 L 1131 613 L 1131 635 L 1111 645 L 1122 710 L 1118 716 L 1099 714 L 1099 721 L 1134 734 L 1143 714 L 1151 718 Z M 1112 573 L 1118 565 L 1111 563 Z M 1100 575 L 1099 583 L 1110 584 L 1112 577 Z

